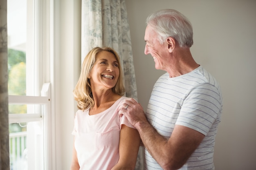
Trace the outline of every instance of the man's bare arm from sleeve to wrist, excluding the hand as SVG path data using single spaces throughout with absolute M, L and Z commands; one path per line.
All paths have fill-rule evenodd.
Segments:
M 176 125 L 169 139 L 159 135 L 149 123 L 139 122 L 136 126 L 144 147 L 164 170 L 181 168 L 204 135 L 185 126 Z

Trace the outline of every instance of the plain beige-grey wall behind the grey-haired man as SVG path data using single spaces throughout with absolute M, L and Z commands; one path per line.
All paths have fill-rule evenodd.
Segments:
M 224 106 L 218 128 L 216 170 L 255 169 L 256 158 L 256 1 L 126 0 L 138 100 L 146 110 L 153 84 L 163 71 L 144 55 L 145 20 L 172 8 L 186 15 L 194 31 L 191 52 L 218 79 Z

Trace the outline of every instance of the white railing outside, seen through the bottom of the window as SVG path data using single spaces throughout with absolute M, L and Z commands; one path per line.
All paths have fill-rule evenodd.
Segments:
M 27 167 L 27 132 L 9 134 L 10 168 L 21 170 Z M 23 169 L 22 169 L 23 170 Z

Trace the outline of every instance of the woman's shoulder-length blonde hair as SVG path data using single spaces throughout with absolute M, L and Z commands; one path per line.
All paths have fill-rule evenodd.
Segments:
M 77 101 L 77 107 L 80 110 L 85 110 L 94 106 L 94 99 L 92 96 L 92 89 L 88 76 L 90 71 L 92 70 L 92 67 L 95 64 L 97 54 L 101 51 L 108 51 L 115 55 L 118 62 L 119 77 L 117 79 L 117 84 L 112 88 L 112 92 L 118 95 L 124 95 L 124 75 L 121 68 L 119 55 L 114 49 L 110 47 L 95 47 L 86 55 L 85 59 L 83 60 L 80 77 L 73 91 L 74 99 Z

